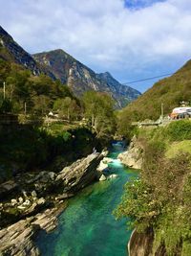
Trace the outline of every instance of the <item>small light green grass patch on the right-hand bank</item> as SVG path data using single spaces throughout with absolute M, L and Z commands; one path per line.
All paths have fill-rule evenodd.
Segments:
M 171 145 L 169 145 L 167 151 L 165 152 L 165 156 L 167 158 L 173 158 L 178 156 L 180 151 L 191 153 L 191 140 L 173 142 Z

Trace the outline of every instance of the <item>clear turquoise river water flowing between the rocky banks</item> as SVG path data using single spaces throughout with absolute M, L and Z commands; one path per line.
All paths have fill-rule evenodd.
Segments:
M 117 154 L 119 143 L 113 144 L 109 157 L 110 174 L 117 178 L 96 182 L 71 198 L 59 217 L 58 227 L 51 233 L 41 232 L 37 245 L 43 256 L 123 256 L 131 235 L 126 221 L 116 221 L 112 212 L 122 195 L 123 185 L 137 174 L 125 168 Z

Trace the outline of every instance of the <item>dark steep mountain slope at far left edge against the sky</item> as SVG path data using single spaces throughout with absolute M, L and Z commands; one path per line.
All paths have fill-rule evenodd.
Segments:
M 0 26 L 0 58 L 5 60 L 21 64 L 27 69 L 32 71 L 33 75 L 39 75 L 44 73 L 50 76 L 52 79 L 55 79 L 53 73 L 45 66 L 40 66 L 32 56 L 27 53 L 19 44 L 17 44 L 11 35 L 9 35 L 1 26 Z

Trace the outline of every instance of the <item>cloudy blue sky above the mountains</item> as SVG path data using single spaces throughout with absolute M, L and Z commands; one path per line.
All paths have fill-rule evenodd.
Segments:
M 0 0 L 0 25 L 31 54 L 63 49 L 126 83 L 191 58 L 190 0 Z M 156 80 L 131 83 L 144 92 Z

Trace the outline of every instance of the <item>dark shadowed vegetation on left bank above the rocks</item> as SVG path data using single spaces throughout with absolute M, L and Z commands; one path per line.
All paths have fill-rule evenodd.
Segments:
M 74 160 L 86 156 L 99 142 L 87 128 L 57 130 L 52 134 L 49 128 L 17 126 L 2 128 L 0 133 L 0 182 L 17 172 L 28 172 L 53 166 L 58 172 Z M 39 153 L 40 152 L 40 153 Z M 54 166 L 62 157 L 60 169 Z

